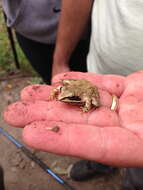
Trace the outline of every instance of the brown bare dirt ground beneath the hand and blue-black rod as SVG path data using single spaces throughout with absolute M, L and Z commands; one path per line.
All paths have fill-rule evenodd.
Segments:
M 22 142 L 21 130 L 8 126 L 2 119 L 4 108 L 19 99 L 19 92 L 29 84 L 30 78 L 17 78 L 0 81 L 0 127 L 3 127 L 16 139 Z M 94 177 L 86 182 L 74 182 L 64 172 L 78 159 L 58 156 L 30 149 L 50 168 L 56 169 L 64 180 L 75 190 L 120 190 L 123 170 L 104 177 Z M 20 150 L 0 134 L 0 165 L 5 171 L 6 190 L 64 190 L 51 176 L 46 174 L 35 163 L 29 160 Z

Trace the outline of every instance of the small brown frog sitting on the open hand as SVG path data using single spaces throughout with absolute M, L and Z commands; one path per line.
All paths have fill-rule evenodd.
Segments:
M 61 80 L 60 83 L 61 85 L 52 90 L 52 98 L 64 103 L 80 105 L 83 112 L 100 106 L 99 90 L 90 81 L 65 79 Z

